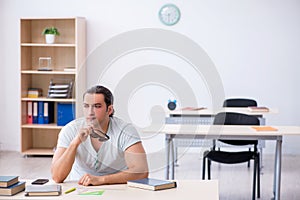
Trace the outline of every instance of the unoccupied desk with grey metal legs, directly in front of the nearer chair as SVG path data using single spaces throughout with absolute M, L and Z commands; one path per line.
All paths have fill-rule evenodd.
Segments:
M 166 135 L 166 179 L 174 179 L 173 139 L 237 139 L 237 140 L 275 140 L 274 198 L 280 199 L 282 138 L 285 135 L 300 135 L 300 126 L 273 126 L 278 131 L 256 131 L 252 126 L 231 125 L 191 125 L 165 124 L 161 128 L 147 128 L 144 133 L 161 133 Z M 170 159 L 171 158 L 171 159 Z

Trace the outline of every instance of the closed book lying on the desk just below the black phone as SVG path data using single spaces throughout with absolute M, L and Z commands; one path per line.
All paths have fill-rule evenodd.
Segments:
M 60 185 L 28 185 L 25 196 L 58 196 L 61 194 Z

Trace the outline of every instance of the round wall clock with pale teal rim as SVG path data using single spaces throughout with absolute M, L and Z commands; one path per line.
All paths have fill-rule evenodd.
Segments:
M 180 10 L 174 4 L 166 4 L 159 10 L 160 21 L 167 25 L 175 25 L 180 19 Z

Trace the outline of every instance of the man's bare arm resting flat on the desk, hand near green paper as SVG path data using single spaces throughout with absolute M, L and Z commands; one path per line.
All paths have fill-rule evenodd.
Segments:
M 127 170 L 105 176 L 85 174 L 78 183 L 84 186 L 117 184 L 148 177 L 147 157 L 141 142 L 135 143 L 125 150 L 125 161 Z

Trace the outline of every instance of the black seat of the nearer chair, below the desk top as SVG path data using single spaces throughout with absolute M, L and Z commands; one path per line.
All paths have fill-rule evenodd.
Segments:
M 256 153 L 251 151 L 239 151 L 234 153 L 225 151 L 207 151 L 207 153 L 204 155 L 209 160 L 215 162 L 225 164 L 238 164 L 254 159 Z

